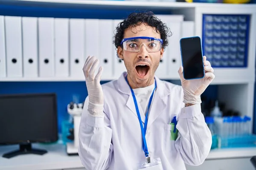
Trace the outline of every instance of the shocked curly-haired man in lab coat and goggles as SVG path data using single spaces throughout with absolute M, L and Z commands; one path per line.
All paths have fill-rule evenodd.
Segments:
M 182 67 L 182 86 L 158 79 L 154 74 L 168 33 L 153 13 L 130 14 L 116 27 L 114 40 L 127 72 L 104 85 L 102 67 L 94 76 L 99 60 L 87 58 L 88 97 L 79 128 L 79 156 L 87 170 L 137 170 L 145 161 L 158 169 L 185 170 L 185 163 L 206 159 L 212 136 L 200 95 L 214 79 L 213 69 L 204 56 L 203 79 L 185 80 Z

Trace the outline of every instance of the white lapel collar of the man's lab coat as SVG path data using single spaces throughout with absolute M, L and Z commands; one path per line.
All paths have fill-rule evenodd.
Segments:
M 127 72 L 124 72 L 119 79 L 117 80 L 118 84 L 118 90 L 122 92 L 123 94 L 129 95 L 129 98 L 126 102 L 126 106 L 137 116 L 136 108 L 134 105 L 134 100 L 131 95 L 131 89 L 129 85 L 127 84 L 125 77 L 127 76 Z M 166 88 L 165 84 L 156 76 L 154 77 L 157 82 L 157 89 L 154 94 L 154 99 L 151 103 L 151 109 L 149 111 L 148 116 L 148 127 L 154 122 L 155 119 L 163 112 L 163 110 L 166 108 L 167 103 L 167 97 L 170 94 L 169 88 Z M 140 117 L 142 122 L 145 122 L 145 113 L 143 113 L 143 109 L 138 104 L 139 111 L 140 111 Z

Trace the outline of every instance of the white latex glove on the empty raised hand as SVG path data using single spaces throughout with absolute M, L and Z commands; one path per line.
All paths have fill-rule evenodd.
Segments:
M 102 67 L 99 68 L 98 73 L 94 76 L 96 67 L 99 65 L 99 59 L 96 57 L 87 57 L 83 72 L 88 91 L 88 112 L 93 116 L 103 116 L 103 91 L 100 84 Z

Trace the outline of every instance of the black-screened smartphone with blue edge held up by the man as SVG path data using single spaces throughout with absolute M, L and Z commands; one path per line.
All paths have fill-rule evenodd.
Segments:
M 204 62 L 200 37 L 181 38 L 180 54 L 184 79 L 204 78 Z

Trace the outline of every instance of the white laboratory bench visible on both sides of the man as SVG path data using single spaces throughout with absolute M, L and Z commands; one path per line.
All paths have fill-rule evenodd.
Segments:
M 79 156 L 67 155 L 64 144 L 32 144 L 32 147 L 45 149 L 48 153 L 42 156 L 27 154 L 6 159 L 2 155 L 17 150 L 18 145 L 0 146 L 0 170 L 85 170 Z M 187 166 L 187 170 L 254 170 L 250 158 L 255 155 L 256 147 L 214 149 L 202 165 Z

